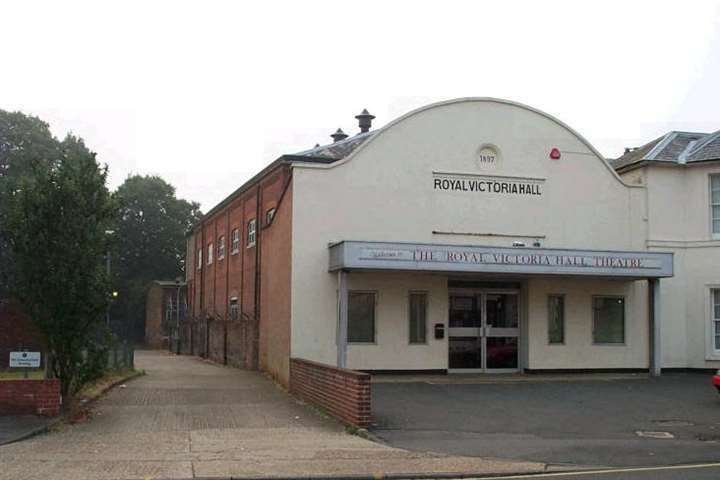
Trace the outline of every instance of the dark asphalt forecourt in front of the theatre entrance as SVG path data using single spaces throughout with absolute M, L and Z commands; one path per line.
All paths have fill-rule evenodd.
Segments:
M 720 395 L 704 374 L 435 376 L 372 388 L 371 432 L 411 451 L 602 467 L 720 461 Z

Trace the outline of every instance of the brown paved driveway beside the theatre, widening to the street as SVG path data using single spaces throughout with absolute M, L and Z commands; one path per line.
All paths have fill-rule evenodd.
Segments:
M 544 464 L 391 448 L 345 433 L 258 372 L 136 352 L 147 375 L 84 423 L 0 447 L 0 479 L 537 472 Z

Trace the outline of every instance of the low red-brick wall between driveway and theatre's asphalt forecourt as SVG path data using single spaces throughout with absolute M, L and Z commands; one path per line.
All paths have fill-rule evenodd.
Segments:
M 370 374 L 290 359 L 290 393 L 323 408 L 341 422 L 370 426 Z

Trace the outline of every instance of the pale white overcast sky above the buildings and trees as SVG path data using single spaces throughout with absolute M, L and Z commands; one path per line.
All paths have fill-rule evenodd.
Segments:
M 83 137 L 117 187 L 204 211 L 283 153 L 426 103 L 507 98 L 608 157 L 720 129 L 720 1 L 3 2 L 0 109 Z

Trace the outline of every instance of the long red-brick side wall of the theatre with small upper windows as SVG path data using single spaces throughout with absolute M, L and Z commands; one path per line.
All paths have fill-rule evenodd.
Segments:
M 267 283 L 268 288 L 277 292 L 278 284 L 285 281 L 287 277 L 287 290 L 289 292 L 289 236 L 290 232 L 274 233 L 276 222 L 266 225 L 266 215 L 269 209 L 280 206 L 280 198 L 288 185 L 290 170 L 288 166 L 279 167 L 270 171 L 254 185 L 248 186 L 244 191 L 237 193 L 234 197 L 211 212 L 204 218 L 201 224 L 188 237 L 188 283 L 189 319 L 187 325 L 181 328 L 183 338 L 181 339 L 180 351 L 192 353 L 212 359 L 217 362 L 227 362 L 229 365 L 242 368 L 256 369 L 260 366 L 260 324 L 265 318 L 262 311 L 261 299 L 262 285 L 267 282 L 265 275 L 274 276 L 275 272 L 268 272 L 262 266 L 263 258 L 272 263 L 272 268 L 285 268 L 287 272 L 281 272 L 281 280 L 273 280 Z M 283 197 L 285 198 L 285 197 Z M 283 200 L 285 202 L 285 200 Z M 287 224 L 292 212 L 286 211 L 288 218 L 280 224 Z M 251 219 L 256 219 L 256 244 L 248 245 L 248 227 Z M 283 228 L 283 227 L 278 227 Z M 289 227 L 288 227 L 289 228 Z M 232 232 L 238 229 L 240 232 L 240 245 L 237 251 L 233 252 Z M 271 247 L 267 246 L 270 237 Z M 280 246 L 279 242 L 288 240 L 287 246 Z M 225 255 L 219 258 L 218 244 L 224 242 Z M 208 248 L 212 245 L 212 262 L 208 262 Z M 282 247 L 281 263 L 272 258 L 272 250 L 268 248 Z M 284 249 L 283 249 L 284 248 Z M 265 249 L 265 250 L 264 250 Z M 198 251 L 202 252 L 202 265 L 198 268 Z M 265 251 L 266 254 L 261 252 Z M 260 264 L 260 274 L 258 274 Z M 192 271 L 191 271 L 192 270 Z M 266 297 L 267 298 L 267 297 Z M 237 318 L 231 318 L 230 300 L 236 299 L 239 314 Z M 281 300 L 281 303 L 284 300 Z M 280 338 L 280 352 L 286 357 L 289 355 L 289 299 L 287 301 L 287 319 L 278 319 L 280 312 L 272 311 L 272 324 L 282 322 L 282 328 L 287 328 L 287 333 L 280 332 L 277 328 L 270 328 L 268 333 Z M 285 309 L 285 306 L 282 307 Z M 272 307 L 270 308 L 272 310 Z M 206 319 L 210 318 L 210 327 L 206 326 Z M 192 331 L 192 333 L 190 333 Z M 192 342 L 190 342 L 192 336 Z M 287 338 L 287 340 L 286 340 Z M 286 348 L 287 344 L 287 348 Z M 268 352 L 270 356 L 268 356 Z M 273 362 L 266 361 L 261 368 L 271 369 L 271 373 L 280 379 L 289 375 L 289 367 L 279 365 L 274 361 L 277 357 L 276 351 L 270 347 L 266 348 L 265 360 L 273 359 Z M 272 367 L 270 366 L 272 363 Z

